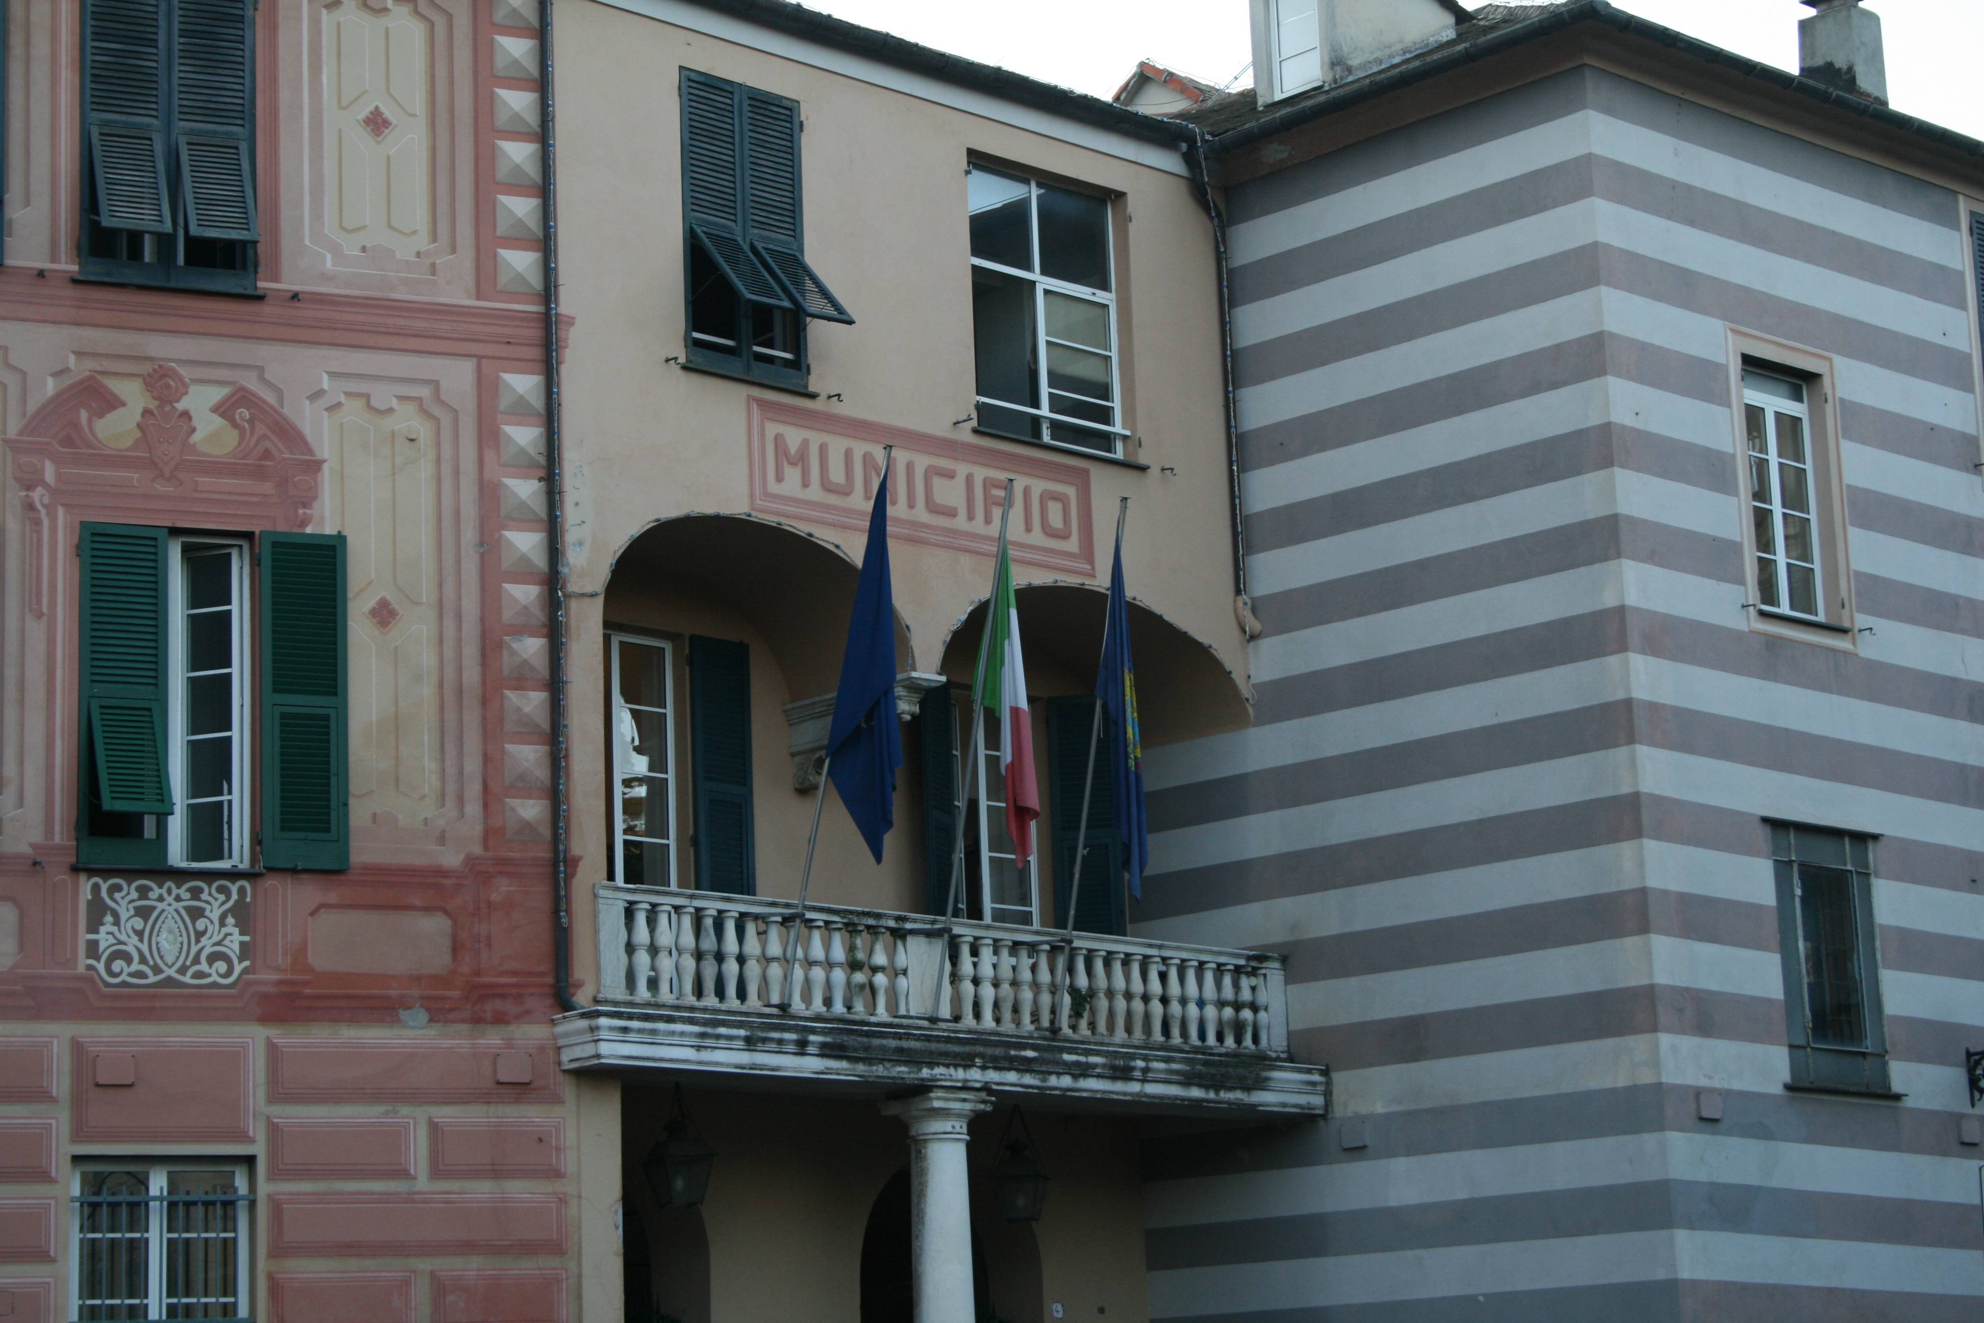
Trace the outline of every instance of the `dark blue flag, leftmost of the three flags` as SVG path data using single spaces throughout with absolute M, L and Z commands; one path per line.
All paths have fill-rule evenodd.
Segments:
M 895 716 L 895 589 L 889 583 L 889 464 L 875 488 L 869 541 L 861 553 L 855 613 L 847 623 L 841 686 L 827 732 L 833 789 L 841 791 L 875 863 L 895 825 L 895 770 L 903 766 L 903 730 Z

